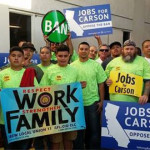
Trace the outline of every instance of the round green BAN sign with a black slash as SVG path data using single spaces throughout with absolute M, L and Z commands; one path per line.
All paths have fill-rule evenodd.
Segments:
M 42 20 L 42 31 L 52 43 L 62 43 L 68 38 L 68 24 L 59 10 L 48 12 Z

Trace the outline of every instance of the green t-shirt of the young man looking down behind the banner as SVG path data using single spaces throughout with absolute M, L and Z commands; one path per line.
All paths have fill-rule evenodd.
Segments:
M 43 79 L 42 85 L 57 85 L 67 84 L 77 81 L 77 71 L 69 64 L 66 67 L 60 67 L 59 65 L 53 65 L 50 67 Z

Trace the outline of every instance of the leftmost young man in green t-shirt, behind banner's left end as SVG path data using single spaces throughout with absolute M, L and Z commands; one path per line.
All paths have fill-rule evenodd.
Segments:
M 10 67 L 0 72 L 0 89 L 3 88 L 18 88 L 21 86 L 21 80 L 25 69 L 22 67 L 24 61 L 23 50 L 18 47 L 12 47 L 9 54 Z M 38 83 L 34 78 L 34 85 Z M 6 149 L 28 149 L 30 148 L 31 140 L 22 140 L 8 144 L 6 139 L 6 132 L 4 128 L 4 118 L 2 114 L 2 107 L 0 103 L 0 130 L 4 139 L 4 148 Z

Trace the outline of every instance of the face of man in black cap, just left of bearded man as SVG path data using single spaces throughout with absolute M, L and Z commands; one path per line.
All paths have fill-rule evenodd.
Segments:
M 119 45 L 113 45 L 111 48 L 111 55 L 113 58 L 121 55 L 122 48 Z

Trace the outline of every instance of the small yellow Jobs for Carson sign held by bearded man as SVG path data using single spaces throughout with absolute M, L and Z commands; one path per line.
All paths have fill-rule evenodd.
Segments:
M 118 93 L 140 97 L 143 89 L 143 78 L 134 74 L 111 71 L 112 84 L 109 93 Z

